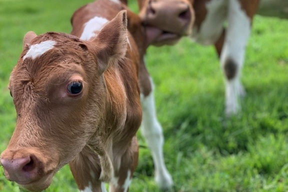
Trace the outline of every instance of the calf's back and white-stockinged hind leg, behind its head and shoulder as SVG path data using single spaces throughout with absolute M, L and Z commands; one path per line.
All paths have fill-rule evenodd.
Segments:
M 121 3 L 122 2 L 122 3 Z M 71 18 L 72 32 L 80 39 L 94 36 L 94 30 L 102 27 L 117 11 L 127 10 L 128 30 L 133 36 L 139 50 L 139 85 L 141 91 L 142 124 L 141 132 L 151 150 L 155 169 L 155 181 L 161 189 L 170 188 L 173 184 L 163 158 L 163 134 L 158 123 L 153 98 L 153 84 L 144 63 L 147 46 L 157 38 L 157 33 L 144 31 L 138 15 L 132 13 L 125 5 L 125 0 L 96 0 L 76 10 Z M 103 11 L 105 10 L 105 11 Z M 155 29 L 157 31 L 157 29 Z M 149 32 L 149 34 L 146 34 Z

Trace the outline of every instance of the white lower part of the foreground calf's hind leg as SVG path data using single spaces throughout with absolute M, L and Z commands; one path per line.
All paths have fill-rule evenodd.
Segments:
M 151 79 L 150 82 L 152 85 Z M 143 112 L 141 132 L 152 153 L 155 167 L 155 181 L 160 188 L 167 189 L 173 185 L 173 181 L 164 163 L 162 149 L 164 138 L 161 125 L 156 117 L 153 92 L 151 92 L 147 97 L 141 95 L 141 104 Z

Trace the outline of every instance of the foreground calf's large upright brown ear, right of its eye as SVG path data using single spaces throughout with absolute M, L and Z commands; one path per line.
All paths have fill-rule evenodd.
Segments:
M 96 44 L 100 72 L 109 64 L 121 60 L 127 50 L 127 11 L 122 10 L 99 31 L 92 40 Z

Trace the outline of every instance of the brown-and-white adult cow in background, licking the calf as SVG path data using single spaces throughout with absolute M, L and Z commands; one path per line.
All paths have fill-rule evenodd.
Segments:
M 156 26 L 153 31 L 159 36 L 155 45 L 174 43 L 191 29 L 190 36 L 196 42 L 214 45 L 225 76 L 227 116 L 240 110 L 238 98 L 245 95 L 240 82 L 240 72 L 251 31 L 252 17 L 258 3 L 259 0 L 138 0 L 140 17 L 149 28 Z M 189 14 L 188 10 L 183 11 L 179 4 L 181 7 L 192 6 L 190 12 L 194 14 Z M 180 13 L 174 14 L 175 12 Z M 190 18 L 187 19 L 187 16 Z M 183 17 L 185 21 L 194 20 L 193 25 L 189 25 L 191 28 L 186 27 L 187 23 L 183 22 Z M 161 28 L 162 31 L 157 31 L 157 28 Z M 171 39 L 161 40 L 163 36 L 169 35 Z

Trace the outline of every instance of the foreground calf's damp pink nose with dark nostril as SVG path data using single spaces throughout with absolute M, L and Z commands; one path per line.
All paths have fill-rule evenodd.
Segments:
M 4 168 L 5 177 L 19 184 L 25 184 L 34 180 L 39 173 L 37 160 L 33 156 L 16 159 L 0 159 Z

